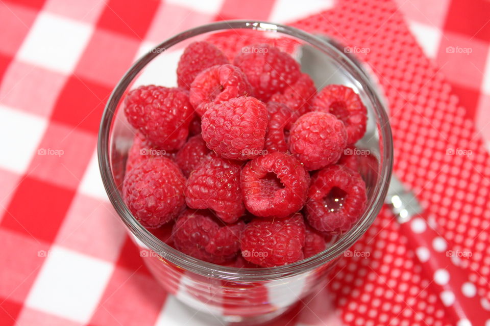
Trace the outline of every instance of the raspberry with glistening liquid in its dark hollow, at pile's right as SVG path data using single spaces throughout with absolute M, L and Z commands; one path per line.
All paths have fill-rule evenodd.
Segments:
M 345 232 L 363 213 L 366 201 L 366 187 L 359 173 L 332 165 L 313 175 L 306 217 L 316 230 Z

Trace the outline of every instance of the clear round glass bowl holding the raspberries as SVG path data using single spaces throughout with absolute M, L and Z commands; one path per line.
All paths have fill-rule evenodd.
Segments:
M 369 124 L 364 138 L 356 146 L 369 150 L 361 175 L 366 182 L 367 209 L 352 229 L 327 248 L 308 259 L 273 268 L 238 269 L 207 263 L 187 256 L 160 241 L 132 216 L 121 198 L 120 183 L 124 177 L 127 152 L 134 130 L 124 117 L 125 94 L 139 85 L 177 85 L 176 67 L 185 45 L 203 40 L 213 33 L 247 29 L 260 41 L 289 40 L 295 44 L 293 57 L 302 70 L 330 71 L 331 77 L 352 87 L 368 110 Z M 307 50 L 306 50 L 307 49 Z M 302 57 L 306 52 L 314 58 Z M 305 59 L 306 58 L 306 59 Z M 301 59 L 301 60 L 300 60 Z M 305 62 L 303 62 L 306 60 Z M 309 65 L 309 66 L 308 66 Z M 311 65 L 314 65 L 311 67 Z M 330 69 L 330 70 L 329 70 Z M 333 83 L 333 80 L 327 82 Z M 338 83 L 338 81 L 337 81 Z M 320 85 L 316 85 L 319 87 Z M 300 298 L 329 281 L 328 272 L 337 258 L 366 231 L 378 214 L 388 188 L 393 149 L 388 117 L 376 86 L 362 69 L 332 43 L 289 26 L 260 21 L 221 21 L 180 33 L 152 49 L 136 62 L 120 80 L 106 105 L 99 133 L 99 164 L 110 201 L 125 223 L 141 256 L 165 290 L 183 303 L 211 313 L 226 322 L 257 324 L 272 319 Z M 156 291 L 158 289 L 155 289 Z

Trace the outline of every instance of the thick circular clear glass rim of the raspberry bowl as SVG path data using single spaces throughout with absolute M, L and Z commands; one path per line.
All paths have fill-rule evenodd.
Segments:
M 205 33 L 233 29 L 253 29 L 259 31 L 279 32 L 281 34 L 300 39 L 309 45 L 313 45 L 322 51 L 329 53 L 331 56 L 337 56 L 338 58 L 335 60 L 344 61 L 346 63 L 345 68 L 349 70 L 349 73 L 355 73 L 354 77 L 356 81 L 361 85 L 369 96 L 370 100 L 373 102 L 374 113 L 377 116 L 379 124 L 381 125 L 381 127 L 378 129 L 381 137 L 380 146 L 383 146 L 383 151 L 380 156 L 381 175 L 380 182 L 378 182 L 373 189 L 371 206 L 364 212 L 361 218 L 359 218 L 358 222 L 356 222 L 356 224 L 348 232 L 342 235 L 342 237 L 335 242 L 333 246 L 312 257 L 288 265 L 270 268 L 236 268 L 216 265 L 187 256 L 159 240 L 136 221 L 122 200 L 112 177 L 109 160 L 109 139 L 115 109 L 117 108 L 125 90 L 139 71 L 141 71 L 146 64 L 148 64 L 161 52 L 164 52 L 165 49 L 170 48 L 181 41 Z M 393 166 L 393 142 L 391 138 L 391 129 L 389 126 L 388 116 L 385 108 L 383 107 L 381 99 L 372 85 L 371 80 L 355 63 L 353 63 L 335 46 L 321 38 L 291 26 L 259 20 L 225 20 L 201 25 L 179 33 L 157 45 L 133 64 L 133 66 L 119 80 L 104 108 L 101 126 L 99 129 L 99 138 L 97 140 L 97 158 L 99 160 L 102 181 L 109 200 L 111 201 L 121 220 L 124 222 L 126 227 L 130 229 L 132 235 L 137 238 L 136 241 L 140 243 L 140 245 L 143 245 L 143 248 L 146 247 L 157 253 L 163 258 L 161 259 L 163 263 L 170 262 L 184 270 L 188 270 L 202 276 L 228 281 L 257 282 L 291 277 L 319 267 L 345 252 L 362 234 L 364 234 L 379 213 L 388 190 L 391 169 Z

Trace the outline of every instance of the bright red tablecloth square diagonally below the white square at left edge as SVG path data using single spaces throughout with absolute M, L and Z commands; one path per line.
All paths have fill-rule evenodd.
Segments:
M 0 226 L 52 242 L 74 195 L 72 189 L 28 176 L 17 187 Z

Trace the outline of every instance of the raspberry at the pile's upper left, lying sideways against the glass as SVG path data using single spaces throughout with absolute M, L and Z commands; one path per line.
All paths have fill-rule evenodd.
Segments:
M 184 145 L 194 115 L 187 91 L 155 85 L 130 91 L 125 114 L 133 127 L 164 150 Z

